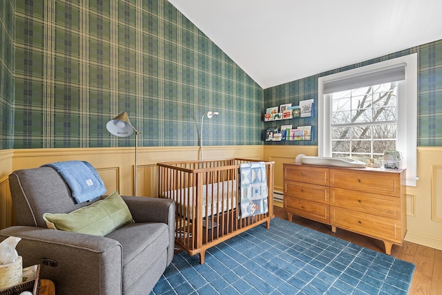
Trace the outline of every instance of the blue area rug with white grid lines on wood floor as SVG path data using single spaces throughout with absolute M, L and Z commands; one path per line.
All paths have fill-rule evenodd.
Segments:
M 407 294 L 414 265 L 274 218 L 199 256 L 176 254 L 152 294 Z

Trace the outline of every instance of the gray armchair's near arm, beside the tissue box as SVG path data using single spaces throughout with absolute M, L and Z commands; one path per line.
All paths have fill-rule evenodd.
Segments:
M 23 267 L 41 265 L 40 277 L 52 280 L 58 294 L 121 294 L 122 246 L 116 240 L 26 226 L 0 230 L 0 241 L 8 236 L 21 238 Z

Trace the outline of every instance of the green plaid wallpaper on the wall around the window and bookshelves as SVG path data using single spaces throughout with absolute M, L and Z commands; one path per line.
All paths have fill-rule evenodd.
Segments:
M 318 77 L 339 73 L 344 70 L 374 64 L 379 61 L 393 59 L 404 55 L 418 53 L 419 55 L 419 89 L 418 89 L 418 146 L 442 146 L 442 40 L 430 44 L 416 46 L 398 53 L 378 57 L 359 64 L 330 70 L 287 84 L 267 88 L 264 91 L 265 108 L 291 103 L 298 105 L 300 100 L 315 99 L 318 96 Z M 318 104 L 314 104 L 314 113 L 317 113 Z M 274 127 L 282 124 L 297 124 L 313 126 L 314 139 L 301 142 L 265 142 L 265 144 L 303 144 L 317 145 L 318 120 L 316 117 L 292 119 L 277 122 L 266 122 L 265 127 Z

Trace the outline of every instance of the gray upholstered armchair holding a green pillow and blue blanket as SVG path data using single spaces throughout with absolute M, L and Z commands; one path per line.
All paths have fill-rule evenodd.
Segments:
M 0 241 L 17 236 L 23 267 L 40 264 L 40 277 L 57 294 L 149 294 L 174 251 L 175 203 L 169 199 L 122 197 L 135 220 L 106 236 L 48 229 L 44 213 L 68 213 L 76 204 L 63 178 L 49 166 L 10 174 L 17 226 L 0 231 Z

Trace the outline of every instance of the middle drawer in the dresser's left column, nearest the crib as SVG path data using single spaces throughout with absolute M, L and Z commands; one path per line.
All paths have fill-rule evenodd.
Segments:
M 284 182 L 284 196 L 329 204 L 329 187 L 302 182 Z

